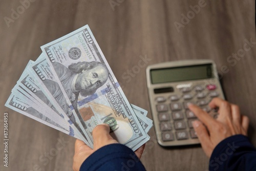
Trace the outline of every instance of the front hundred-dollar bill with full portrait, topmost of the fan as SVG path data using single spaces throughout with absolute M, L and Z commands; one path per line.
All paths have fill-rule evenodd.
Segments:
M 109 124 L 116 139 L 127 146 L 147 137 L 88 25 L 41 49 L 49 65 L 44 72 L 55 77 L 56 91 L 69 99 L 67 108 L 91 141 L 100 123 Z

